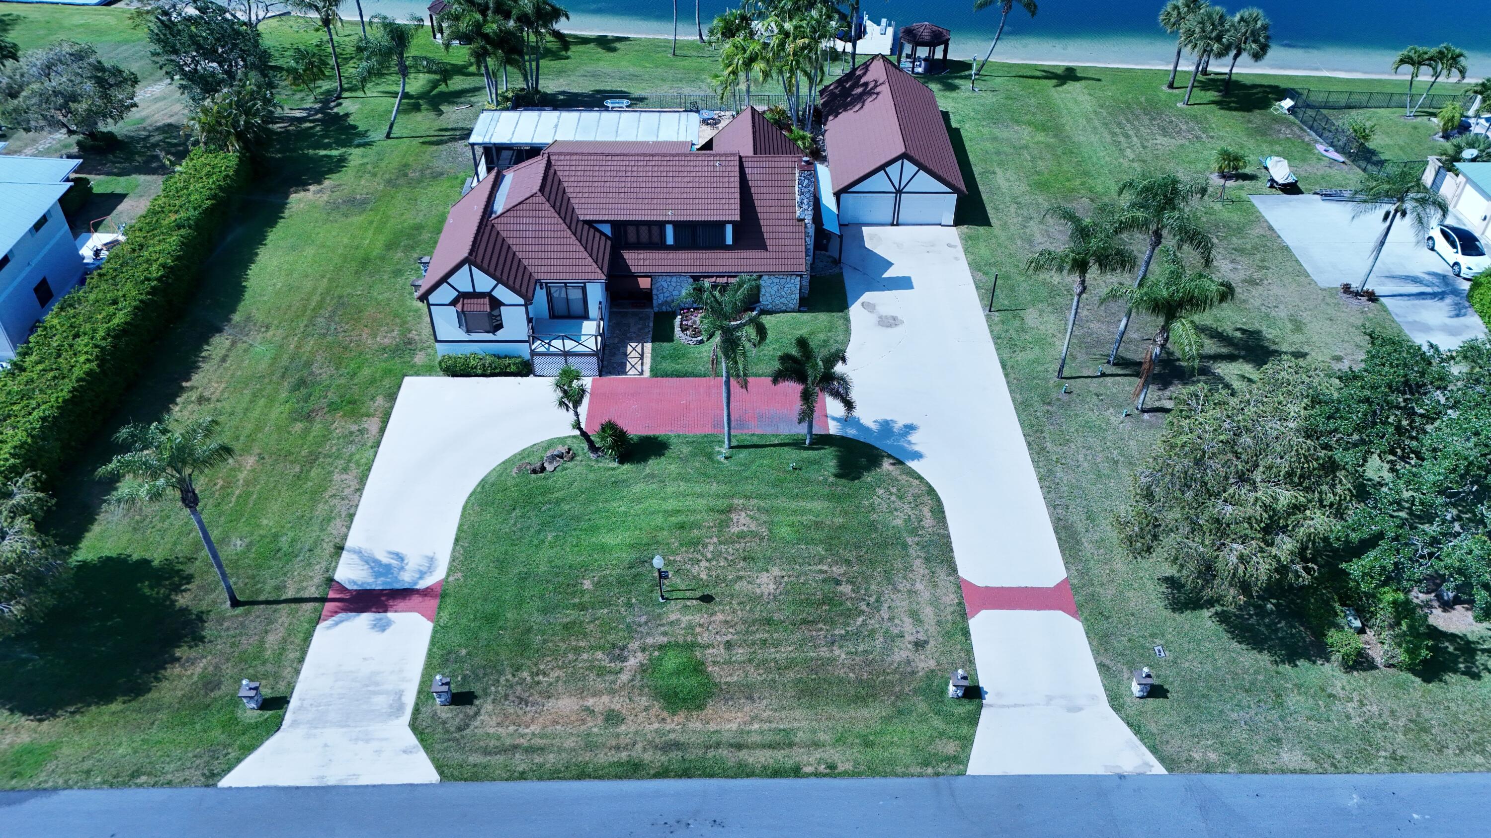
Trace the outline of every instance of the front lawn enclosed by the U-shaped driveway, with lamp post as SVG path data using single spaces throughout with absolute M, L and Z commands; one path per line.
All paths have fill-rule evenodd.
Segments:
M 443 778 L 968 768 L 980 705 L 947 698 L 972 649 L 936 494 L 853 440 L 740 441 L 511 473 L 550 440 L 482 482 L 425 662 L 468 695 L 413 720 Z

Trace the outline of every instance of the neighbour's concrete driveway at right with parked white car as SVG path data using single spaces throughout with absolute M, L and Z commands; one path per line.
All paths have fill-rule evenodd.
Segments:
M 1382 234 L 1381 212 L 1354 219 L 1351 212 L 1358 204 L 1318 195 L 1252 195 L 1252 203 L 1321 288 L 1361 282 L 1372 246 Z M 1449 273 L 1449 265 L 1424 248 L 1413 225 L 1402 219 L 1393 225 L 1367 288 L 1418 343 L 1455 349 L 1487 334 L 1466 301 L 1470 283 Z

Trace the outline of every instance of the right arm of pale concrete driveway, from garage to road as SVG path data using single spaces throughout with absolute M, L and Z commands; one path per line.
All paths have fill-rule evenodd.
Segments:
M 942 498 L 986 693 L 969 774 L 1163 772 L 1108 705 L 957 231 L 848 227 L 859 416 Z

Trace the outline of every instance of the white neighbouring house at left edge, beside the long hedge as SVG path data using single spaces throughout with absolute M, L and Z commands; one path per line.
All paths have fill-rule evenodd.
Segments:
M 78 160 L 0 155 L 0 361 L 83 276 L 58 198 Z

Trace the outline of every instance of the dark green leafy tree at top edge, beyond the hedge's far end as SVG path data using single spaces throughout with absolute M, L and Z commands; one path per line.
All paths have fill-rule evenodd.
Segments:
M 151 58 L 174 78 L 194 106 L 237 84 L 273 91 L 271 58 L 258 30 L 212 0 L 160 0 L 131 12 L 145 28 Z

